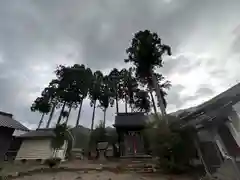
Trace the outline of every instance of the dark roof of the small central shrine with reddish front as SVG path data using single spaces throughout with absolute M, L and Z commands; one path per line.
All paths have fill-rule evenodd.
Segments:
M 144 113 L 118 113 L 114 126 L 144 126 L 147 119 Z

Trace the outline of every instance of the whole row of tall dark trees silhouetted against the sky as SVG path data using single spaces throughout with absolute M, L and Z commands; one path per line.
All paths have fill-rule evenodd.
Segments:
M 166 52 L 166 53 L 165 53 Z M 148 30 L 137 32 L 127 48 L 131 63 L 129 69 L 112 69 L 109 74 L 83 64 L 72 66 L 59 65 L 54 71 L 56 77 L 49 82 L 31 106 L 32 111 L 42 114 L 39 126 L 45 115 L 49 114 L 46 128 L 49 128 L 53 114 L 60 108 L 57 124 L 68 122 L 72 109 L 78 109 L 76 126 L 79 125 L 82 104 L 86 98 L 90 99 L 93 108 L 91 130 L 94 126 L 95 110 L 100 107 L 104 112 L 105 126 L 106 113 L 109 107 L 115 104 L 116 113 L 119 112 L 119 101 L 125 103 L 125 112 L 149 113 L 151 107 L 155 113 L 160 107 L 161 113 L 166 114 L 166 90 L 171 84 L 156 69 L 163 66 L 162 56 L 171 55 L 170 47 L 161 43 L 156 33 Z M 155 93 L 155 94 L 154 94 Z M 156 95 L 158 102 L 154 101 Z

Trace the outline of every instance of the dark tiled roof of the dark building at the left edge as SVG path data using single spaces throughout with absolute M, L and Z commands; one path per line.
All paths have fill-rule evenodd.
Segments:
M 24 125 L 20 122 L 14 120 L 12 114 L 1 112 L 0 111 L 0 127 L 13 128 L 22 131 L 29 131 Z

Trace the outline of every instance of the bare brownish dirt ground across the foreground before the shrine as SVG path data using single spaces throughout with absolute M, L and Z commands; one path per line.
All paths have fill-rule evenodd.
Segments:
M 30 164 L 5 166 L 6 179 L 17 180 L 127 180 L 127 179 L 146 179 L 146 180 L 193 180 L 194 178 L 179 175 L 163 175 L 159 172 L 142 172 L 138 163 L 129 164 L 126 162 L 108 162 L 99 164 L 91 161 L 72 161 L 61 164 L 59 167 L 50 169 L 43 165 L 33 166 Z M 2 172 L 4 172 L 2 171 Z

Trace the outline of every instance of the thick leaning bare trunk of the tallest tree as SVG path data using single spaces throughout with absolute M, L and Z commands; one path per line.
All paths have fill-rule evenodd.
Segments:
M 157 82 L 157 77 L 155 76 L 155 74 L 152 72 L 152 81 L 153 81 L 153 85 L 154 85 L 154 89 L 156 91 L 156 95 L 157 95 L 157 99 L 158 99 L 158 102 L 159 102 L 159 105 L 160 105 L 160 109 L 161 109 L 161 112 L 162 112 L 162 117 L 163 119 L 166 121 L 166 123 L 168 123 L 168 120 L 167 120 L 167 114 L 166 114 L 166 109 L 165 109 L 165 106 L 163 104 L 163 97 L 161 95 L 161 92 L 160 92 L 160 87 L 159 87 L 159 84 Z

